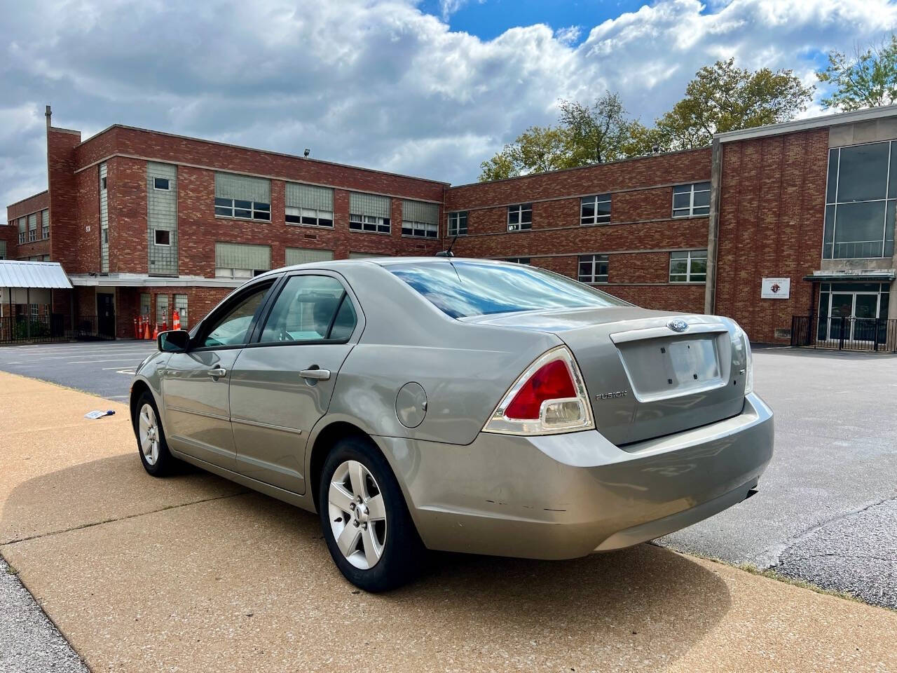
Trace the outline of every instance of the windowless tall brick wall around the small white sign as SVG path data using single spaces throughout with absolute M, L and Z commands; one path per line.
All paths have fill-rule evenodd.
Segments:
M 775 330 L 809 314 L 802 278 L 822 258 L 828 139 L 821 128 L 723 144 L 715 311 L 752 341 L 787 343 Z M 761 299 L 763 277 L 790 277 L 790 299 Z

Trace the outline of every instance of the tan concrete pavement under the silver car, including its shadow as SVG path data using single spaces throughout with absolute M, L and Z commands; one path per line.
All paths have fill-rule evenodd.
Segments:
M 4 373 L 0 554 L 95 671 L 897 671 L 897 614 L 657 546 L 360 593 L 314 515 L 153 479 L 125 406 Z

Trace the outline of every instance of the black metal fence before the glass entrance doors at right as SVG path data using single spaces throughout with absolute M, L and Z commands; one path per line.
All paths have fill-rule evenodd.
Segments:
M 897 353 L 897 319 L 792 316 L 791 345 Z

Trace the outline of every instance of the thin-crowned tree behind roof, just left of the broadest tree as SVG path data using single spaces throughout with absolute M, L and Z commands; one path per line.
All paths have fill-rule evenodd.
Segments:
M 631 141 L 633 123 L 626 117 L 620 94 L 605 92 L 591 107 L 561 101 L 561 127 L 570 134 L 573 165 L 623 159 L 623 145 Z

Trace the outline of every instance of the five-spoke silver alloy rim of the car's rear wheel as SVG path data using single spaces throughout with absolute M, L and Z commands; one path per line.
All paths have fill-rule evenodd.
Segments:
M 330 479 L 327 503 L 336 546 L 350 564 L 370 570 L 387 541 L 387 511 L 377 480 L 358 460 L 346 460 Z

